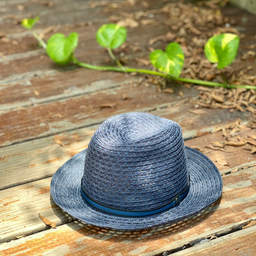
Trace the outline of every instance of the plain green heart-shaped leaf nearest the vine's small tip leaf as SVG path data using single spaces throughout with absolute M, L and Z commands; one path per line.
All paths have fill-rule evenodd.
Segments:
M 72 58 L 78 44 L 78 34 L 73 32 L 68 37 L 61 33 L 52 35 L 47 41 L 46 52 L 59 65 L 66 65 Z

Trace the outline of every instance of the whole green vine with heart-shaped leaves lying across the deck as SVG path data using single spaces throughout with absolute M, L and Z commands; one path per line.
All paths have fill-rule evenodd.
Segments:
M 116 62 L 117 67 L 95 66 L 89 63 L 80 62 L 74 56 L 74 51 L 78 45 L 78 34 L 73 32 L 66 37 L 61 33 L 56 33 L 49 38 L 46 44 L 46 42 L 42 40 L 34 30 L 32 30 L 38 19 L 38 16 L 34 19 L 24 19 L 22 25 L 26 29 L 31 30 L 33 36 L 39 41 L 40 46 L 46 49 L 48 56 L 59 65 L 67 65 L 71 61 L 77 66 L 92 70 L 124 73 L 136 72 L 140 74 L 161 76 L 166 79 L 180 82 L 201 84 L 203 86 L 256 90 L 256 86 L 229 84 L 225 77 L 225 83 L 179 77 L 184 64 L 184 54 L 180 45 L 176 42 L 168 44 L 165 51 L 155 50 L 150 54 L 152 65 L 159 71 L 123 67 L 120 61 L 113 54 L 112 50 L 123 44 L 126 39 L 127 32 L 126 28 L 120 27 L 116 24 L 104 24 L 101 26 L 96 33 L 96 40 L 99 45 L 108 50 L 111 58 Z M 235 34 L 225 33 L 211 37 L 205 44 L 204 52 L 210 62 L 218 63 L 217 68 L 222 69 L 230 65 L 236 57 L 238 47 L 239 37 Z

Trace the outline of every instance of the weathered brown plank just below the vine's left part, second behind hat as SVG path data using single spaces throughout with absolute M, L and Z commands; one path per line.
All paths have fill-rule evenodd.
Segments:
M 0 89 L 0 111 L 24 108 L 99 90 L 120 87 L 136 79 L 118 72 L 92 72 L 87 69 L 56 70 L 53 74 L 7 83 Z M 11 93 L 10 93 L 11 92 Z

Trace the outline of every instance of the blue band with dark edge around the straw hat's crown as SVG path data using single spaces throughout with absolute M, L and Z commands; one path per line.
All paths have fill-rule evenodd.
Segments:
M 82 197 L 84 198 L 84 200 L 87 201 L 87 203 L 89 203 L 91 206 L 93 206 L 94 208 L 96 208 L 98 210 L 106 212 L 107 214 L 123 216 L 123 217 L 144 217 L 144 216 L 149 216 L 149 215 L 153 215 L 153 214 L 159 214 L 159 212 L 161 212 L 161 211 L 164 211 L 164 210 L 172 208 L 176 205 L 179 205 L 180 202 L 188 194 L 189 185 L 190 185 L 190 183 L 188 182 L 188 185 L 185 188 L 185 190 L 178 196 L 174 197 L 170 202 L 164 204 L 163 206 L 160 206 L 160 207 L 157 207 L 154 209 L 150 209 L 150 210 L 126 210 L 126 209 L 124 210 L 124 209 L 108 206 L 106 204 L 102 204 L 102 203 L 92 199 L 90 196 L 88 196 L 87 193 L 83 190 L 82 186 L 81 186 L 81 193 L 82 193 Z

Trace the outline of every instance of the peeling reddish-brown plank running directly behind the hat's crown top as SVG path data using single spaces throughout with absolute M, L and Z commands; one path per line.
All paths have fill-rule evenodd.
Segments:
M 188 89 L 186 92 L 189 96 L 197 93 Z M 128 98 L 125 99 L 126 96 L 123 95 Z M 174 100 L 177 100 L 177 94 L 159 94 L 154 86 L 133 88 L 130 84 L 124 84 L 121 87 L 101 90 L 81 97 L 2 113 L 0 144 L 4 146 L 78 129 L 102 122 L 112 115 L 149 111 L 171 104 Z M 108 104 L 114 104 L 113 108 L 108 107 Z

